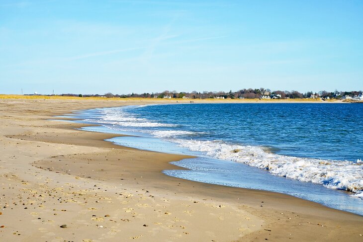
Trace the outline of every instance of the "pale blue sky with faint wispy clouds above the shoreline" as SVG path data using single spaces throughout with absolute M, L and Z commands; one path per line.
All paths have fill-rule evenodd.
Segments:
M 0 93 L 363 89 L 362 0 L 0 0 Z

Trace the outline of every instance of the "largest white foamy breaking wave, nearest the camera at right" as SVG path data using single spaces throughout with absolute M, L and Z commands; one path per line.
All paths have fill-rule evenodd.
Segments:
M 240 146 L 220 141 L 175 139 L 191 151 L 222 160 L 246 163 L 267 169 L 274 175 L 323 184 L 325 187 L 357 193 L 363 198 L 363 163 L 288 157 L 266 152 L 262 147 Z

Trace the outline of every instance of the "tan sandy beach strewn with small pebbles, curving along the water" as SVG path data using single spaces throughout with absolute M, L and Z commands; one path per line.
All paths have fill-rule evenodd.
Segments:
M 113 134 L 51 120 L 155 102 L 175 100 L 0 99 L 0 241 L 363 240 L 362 216 L 170 177 L 161 171 L 180 168 L 169 162 L 186 156 L 117 146 L 104 141 Z

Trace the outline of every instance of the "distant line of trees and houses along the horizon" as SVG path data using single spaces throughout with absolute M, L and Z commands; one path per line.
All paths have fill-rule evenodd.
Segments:
M 271 91 L 269 88 L 259 88 L 259 89 L 241 89 L 238 91 L 224 92 L 224 91 L 192 91 L 192 92 L 177 92 L 175 90 L 169 91 L 165 90 L 163 92 L 156 92 L 156 93 L 129 93 L 129 94 L 112 94 L 111 92 L 105 93 L 104 95 L 99 94 L 62 94 L 62 96 L 83 96 L 83 97 L 120 97 L 120 98 L 127 98 L 127 97 L 144 97 L 144 98 L 276 98 L 276 99 L 284 99 L 284 98 L 336 98 L 340 99 L 347 95 L 349 96 L 358 96 L 362 93 L 362 91 L 338 91 L 335 90 L 334 92 L 328 91 L 319 91 L 319 92 L 312 92 L 308 91 L 305 93 L 301 93 L 295 90 L 292 91 L 281 91 L 275 90 Z

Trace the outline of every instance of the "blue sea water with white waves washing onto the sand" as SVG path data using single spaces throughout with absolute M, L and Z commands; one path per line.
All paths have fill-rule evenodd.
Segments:
M 226 103 L 80 111 L 110 141 L 197 156 L 174 162 L 184 179 L 287 193 L 363 215 L 363 105 Z M 350 191 L 350 192 L 347 192 Z

